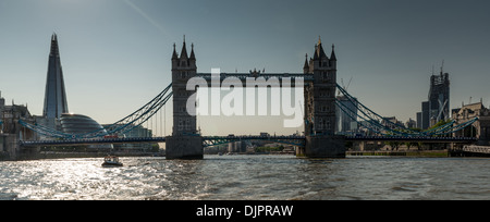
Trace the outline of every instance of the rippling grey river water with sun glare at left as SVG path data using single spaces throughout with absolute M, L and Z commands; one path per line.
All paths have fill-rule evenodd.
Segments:
M 205 156 L 0 162 L 0 199 L 490 199 L 490 159 Z

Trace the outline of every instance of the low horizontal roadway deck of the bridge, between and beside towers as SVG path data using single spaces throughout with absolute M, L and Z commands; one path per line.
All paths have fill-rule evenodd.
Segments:
M 268 141 L 292 141 L 292 145 L 304 144 L 305 136 L 204 136 L 204 141 L 212 144 L 213 140 L 225 143 L 238 140 L 268 140 Z M 383 136 L 346 136 L 347 141 L 421 141 L 421 143 L 474 143 L 475 137 L 383 137 Z M 78 146 L 94 144 L 139 144 L 139 143 L 164 143 L 166 137 L 136 137 L 136 138 L 98 138 L 98 139 L 58 139 L 58 140 L 21 140 L 20 145 L 24 147 L 33 146 Z

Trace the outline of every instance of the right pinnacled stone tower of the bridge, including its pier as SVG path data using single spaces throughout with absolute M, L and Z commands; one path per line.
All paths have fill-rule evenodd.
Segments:
M 310 158 L 345 157 L 345 141 L 335 133 L 336 57 L 334 46 L 330 59 L 321 39 L 315 46 L 314 58 L 306 57 L 304 74 L 313 74 L 314 81 L 305 85 L 306 146 L 301 155 Z

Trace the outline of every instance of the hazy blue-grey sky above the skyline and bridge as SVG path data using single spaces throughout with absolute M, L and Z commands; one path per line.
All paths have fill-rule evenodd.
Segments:
M 489 22 L 487 0 L 0 0 L 0 90 L 42 114 L 56 32 L 70 111 L 112 123 L 170 83 L 184 34 L 204 73 L 301 73 L 321 36 L 328 53 L 335 45 L 338 81 L 353 78 L 360 102 L 406 121 L 442 60 L 451 108 L 470 97 L 490 104 Z M 199 122 L 205 135 L 296 131 L 273 118 Z

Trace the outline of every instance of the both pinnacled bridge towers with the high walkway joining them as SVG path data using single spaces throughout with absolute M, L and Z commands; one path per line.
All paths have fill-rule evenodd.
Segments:
M 301 79 L 304 85 L 305 97 L 305 146 L 301 155 L 311 158 L 340 158 L 345 157 L 344 137 L 335 135 L 335 89 L 336 89 L 336 57 L 334 48 L 330 58 L 326 54 L 321 40 L 315 46 L 314 57 L 306 55 L 303 73 L 268 74 L 259 72 L 250 74 L 198 74 L 194 45 L 191 55 L 187 55 L 184 39 L 180 55 L 175 45 L 172 54 L 172 90 L 173 90 L 173 130 L 172 136 L 167 138 L 168 159 L 201 159 L 203 137 L 197 135 L 196 116 L 185 109 L 188 98 L 196 92 L 196 88 L 187 88 L 187 83 L 195 77 L 203 77 L 206 85 L 217 87 L 213 81 L 220 82 L 226 77 L 238 79 L 271 79 L 282 78 Z M 242 82 L 243 83 L 243 82 Z M 255 87 L 255 86 L 253 86 Z M 281 87 L 281 85 L 278 85 Z

